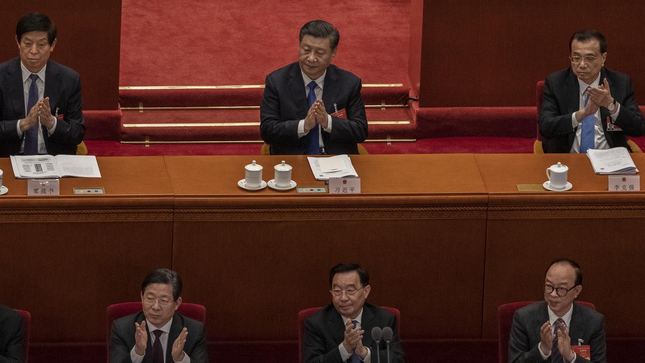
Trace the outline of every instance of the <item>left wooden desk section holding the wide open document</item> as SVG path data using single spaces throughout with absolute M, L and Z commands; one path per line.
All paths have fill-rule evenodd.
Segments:
M 0 196 L 0 296 L 32 313 L 32 342 L 104 342 L 105 309 L 137 300 L 171 264 L 173 195 L 161 157 L 98 158 L 103 178 L 62 178 L 61 196 L 27 196 L 8 158 Z M 72 195 L 104 187 L 106 195 Z

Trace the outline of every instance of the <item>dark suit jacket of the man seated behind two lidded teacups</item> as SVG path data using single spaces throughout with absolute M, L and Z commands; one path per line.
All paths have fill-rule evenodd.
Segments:
M 266 76 L 260 106 L 260 133 L 272 155 L 304 154 L 307 138 L 298 138 L 298 123 L 307 116 L 303 75 L 297 62 Z M 356 144 L 367 138 L 361 79 L 335 65 L 327 68 L 323 102 L 328 114 L 345 109 L 347 118 L 332 117 L 332 132 L 321 130 L 328 154 L 358 154 Z

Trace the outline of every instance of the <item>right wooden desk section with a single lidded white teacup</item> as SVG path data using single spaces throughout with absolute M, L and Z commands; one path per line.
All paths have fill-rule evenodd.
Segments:
M 645 155 L 633 154 L 645 170 Z M 645 193 L 608 192 L 608 176 L 593 173 L 581 154 L 477 154 L 489 192 L 486 233 L 483 337 L 497 337 L 497 307 L 541 300 L 549 262 L 581 264 L 580 300 L 606 316 L 608 335 L 645 336 Z M 545 169 L 570 168 L 566 192 L 518 192 L 519 183 L 542 183 Z

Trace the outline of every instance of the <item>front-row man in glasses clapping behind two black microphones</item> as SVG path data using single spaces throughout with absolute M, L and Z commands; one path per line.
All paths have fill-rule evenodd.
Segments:
M 372 289 L 370 275 L 357 264 L 338 264 L 330 271 L 329 282 L 333 303 L 304 322 L 303 362 L 377 362 L 373 327 L 392 328 L 390 362 L 405 362 L 396 317 L 365 302 Z M 383 340 L 379 350 L 381 362 L 388 362 Z

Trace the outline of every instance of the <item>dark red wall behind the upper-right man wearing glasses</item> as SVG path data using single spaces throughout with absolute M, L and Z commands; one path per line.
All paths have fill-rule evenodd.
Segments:
M 604 34 L 606 67 L 630 74 L 645 103 L 641 3 L 412 0 L 411 8 L 409 69 L 421 107 L 535 105 L 535 83 L 570 66 L 568 42 L 581 28 Z

